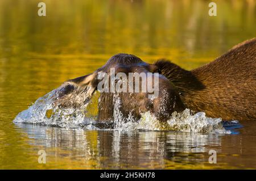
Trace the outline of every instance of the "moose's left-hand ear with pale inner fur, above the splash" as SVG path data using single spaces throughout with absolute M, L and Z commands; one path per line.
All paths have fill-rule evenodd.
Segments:
M 86 94 L 92 96 L 94 91 L 97 89 L 98 80 L 97 73 L 84 75 L 75 79 L 70 79 L 63 83 L 64 86 L 72 86 L 76 92 L 86 91 Z

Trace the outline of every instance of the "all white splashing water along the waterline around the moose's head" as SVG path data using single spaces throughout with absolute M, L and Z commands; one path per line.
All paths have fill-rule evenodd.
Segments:
M 78 94 L 65 95 L 64 98 L 60 99 L 60 94 L 64 89 L 61 86 L 36 100 L 31 107 L 20 112 L 15 117 L 14 123 L 43 124 L 62 128 L 100 129 L 96 127 L 97 121 L 95 117 L 90 117 L 86 114 L 88 113 L 86 107 L 89 104 L 89 96 L 86 94 L 86 90 Z M 64 105 L 63 102 L 65 102 Z M 230 130 L 226 130 L 223 127 L 220 118 L 207 117 L 204 112 L 192 114 L 189 109 L 181 113 L 174 112 L 171 119 L 162 123 L 151 115 L 149 111 L 142 113 L 139 121 L 135 121 L 131 113 L 129 117 L 125 118 L 119 111 L 121 106 L 118 95 L 114 95 L 114 120 L 112 124 L 113 128 L 118 131 L 151 130 L 231 133 Z

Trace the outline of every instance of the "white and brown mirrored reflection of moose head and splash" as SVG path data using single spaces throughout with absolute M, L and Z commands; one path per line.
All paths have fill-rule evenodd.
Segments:
M 177 162 L 176 166 L 195 160 L 204 164 L 207 163 L 203 154 L 208 151 L 207 146 L 216 146 L 216 151 L 221 146 L 218 134 L 84 131 L 31 124 L 19 124 L 18 127 L 27 132 L 30 144 L 44 147 L 49 159 L 57 154 L 58 157 L 93 160 L 97 162 L 95 168 L 150 168 L 154 165 L 164 169 L 167 161 L 174 165 Z M 87 165 L 81 168 L 83 166 Z

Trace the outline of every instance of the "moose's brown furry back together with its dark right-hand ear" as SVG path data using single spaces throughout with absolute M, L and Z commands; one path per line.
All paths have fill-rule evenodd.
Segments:
M 191 71 L 164 60 L 155 65 L 174 83 L 185 107 L 223 120 L 256 120 L 256 39 Z

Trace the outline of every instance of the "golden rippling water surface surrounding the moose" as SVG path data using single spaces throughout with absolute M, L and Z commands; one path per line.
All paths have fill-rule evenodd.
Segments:
M 251 121 L 218 124 L 203 113 L 199 119 L 185 112 L 187 125 L 200 120 L 219 126 L 209 131 L 159 131 L 143 120 L 114 130 L 90 122 L 84 128 L 74 119 L 69 123 L 75 128 L 13 123 L 38 98 L 91 73 L 113 54 L 131 53 L 150 63 L 165 57 L 188 70 L 212 61 L 255 37 L 253 1 L 221 1 L 216 17 L 205 15 L 208 2 L 199 0 L 45 2 L 47 16 L 39 17 L 35 1 L 0 1 L 0 169 L 256 168 Z M 94 107 L 86 106 L 86 117 L 95 116 Z M 177 123 L 183 122 L 168 124 Z M 216 164 L 208 163 L 212 149 Z M 38 163 L 39 150 L 46 150 L 46 164 Z

